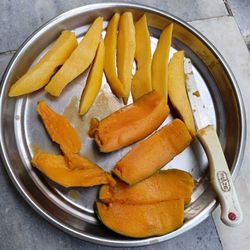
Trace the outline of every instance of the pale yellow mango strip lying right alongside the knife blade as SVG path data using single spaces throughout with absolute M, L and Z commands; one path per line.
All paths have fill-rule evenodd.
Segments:
M 169 99 L 181 119 L 186 124 L 190 134 L 196 134 L 194 118 L 186 91 L 184 73 L 184 51 L 174 53 L 168 65 Z

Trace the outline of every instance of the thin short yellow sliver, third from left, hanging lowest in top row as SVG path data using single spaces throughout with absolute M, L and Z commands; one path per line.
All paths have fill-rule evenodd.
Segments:
M 80 115 L 84 115 L 86 112 L 88 112 L 89 108 L 94 103 L 95 98 L 101 88 L 104 56 L 105 56 L 104 42 L 103 40 L 101 40 L 99 47 L 97 49 L 94 63 L 88 75 L 86 85 L 82 92 L 80 109 L 79 109 Z

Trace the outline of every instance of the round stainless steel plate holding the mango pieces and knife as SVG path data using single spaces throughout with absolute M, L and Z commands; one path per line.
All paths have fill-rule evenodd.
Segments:
M 97 16 L 109 20 L 114 12 L 125 10 L 132 11 L 135 20 L 143 13 L 147 15 L 153 49 L 160 31 L 168 23 L 174 23 L 171 53 L 183 49 L 186 56 L 191 58 L 200 94 L 217 127 L 231 172 L 233 176 L 236 175 L 244 153 L 246 125 L 241 95 L 230 69 L 214 46 L 190 25 L 165 12 L 135 4 L 105 3 L 71 10 L 42 26 L 24 42 L 3 77 L 0 103 L 1 154 L 17 189 L 36 211 L 53 224 L 92 242 L 113 246 L 139 246 L 173 238 L 196 226 L 215 208 L 215 195 L 207 176 L 207 159 L 199 143 L 195 141 L 165 166 L 185 169 L 198 182 L 192 201 L 185 208 L 184 225 L 164 236 L 130 239 L 111 232 L 97 220 L 93 205 L 98 188 L 62 188 L 49 181 L 30 164 L 38 148 L 58 152 L 57 145 L 49 139 L 35 111 L 40 99 L 46 99 L 54 110 L 69 118 L 81 135 L 81 153 L 106 170 L 110 170 L 129 150 L 130 147 L 127 147 L 112 154 L 101 154 L 86 134 L 91 117 L 103 118 L 122 106 L 111 93 L 105 77 L 95 104 L 83 118 L 78 116 L 78 102 L 87 72 L 74 80 L 56 99 L 49 97 L 44 91 L 20 98 L 7 96 L 10 85 L 46 52 L 62 30 L 73 30 L 80 39 Z M 106 25 L 107 22 L 104 29 Z M 174 113 L 165 123 L 173 116 Z

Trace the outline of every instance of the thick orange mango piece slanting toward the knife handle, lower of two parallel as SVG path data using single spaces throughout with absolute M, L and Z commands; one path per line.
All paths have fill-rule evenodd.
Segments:
M 113 173 L 133 185 L 154 174 L 192 141 L 185 124 L 173 120 L 146 140 L 138 143 L 120 161 Z

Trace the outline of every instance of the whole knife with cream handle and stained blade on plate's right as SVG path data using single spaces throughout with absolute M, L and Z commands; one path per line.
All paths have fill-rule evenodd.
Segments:
M 210 182 L 221 205 L 221 220 L 224 224 L 234 227 L 239 225 L 243 219 L 242 210 L 216 129 L 206 115 L 205 106 L 198 92 L 192 71 L 192 63 L 189 58 L 185 58 L 184 71 L 197 138 L 206 152 Z

